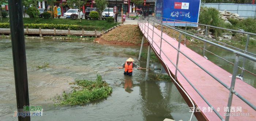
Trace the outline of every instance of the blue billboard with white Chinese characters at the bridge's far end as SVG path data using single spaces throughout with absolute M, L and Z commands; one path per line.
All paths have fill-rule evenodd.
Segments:
M 157 0 L 156 16 L 167 18 L 167 24 L 171 26 L 174 26 L 174 20 L 198 23 L 200 3 L 201 0 Z M 186 22 L 175 21 L 175 26 L 186 26 Z M 163 23 L 166 23 L 165 19 Z M 197 27 L 192 23 L 187 26 Z

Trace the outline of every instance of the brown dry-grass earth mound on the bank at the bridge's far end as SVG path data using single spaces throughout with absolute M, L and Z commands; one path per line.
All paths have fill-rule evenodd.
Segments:
M 122 25 L 104 34 L 101 38 L 106 41 L 128 42 L 137 45 L 142 42 L 142 35 L 137 25 Z

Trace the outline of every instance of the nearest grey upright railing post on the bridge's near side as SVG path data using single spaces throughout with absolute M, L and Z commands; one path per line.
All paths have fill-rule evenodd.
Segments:
M 230 85 L 230 89 L 229 89 L 229 101 L 227 102 L 227 108 L 229 108 L 229 110 L 228 110 L 228 112 L 225 112 L 225 113 L 230 113 L 230 106 L 232 104 L 232 99 L 233 99 L 233 92 L 232 91 L 234 90 L 235 83 L 236 83 L 238 63 L 239 63 L 239 55 L 236 55 L 233 74 L 232 74 L 231 85 Z M 229 121 L 229 115 L 226 116 L 225 121 Z

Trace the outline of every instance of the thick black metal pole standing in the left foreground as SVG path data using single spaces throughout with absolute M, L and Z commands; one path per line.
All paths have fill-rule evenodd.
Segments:
M 19 112 L 23 112 L 23 106 L 29 106 L 29 88 L 23 18 L 20 17 L 22 16 L 22 1 L 8 0 L 8 4 L 17 109 Z M 18 116 L 18 121 L 30 121 L 30 116 Z

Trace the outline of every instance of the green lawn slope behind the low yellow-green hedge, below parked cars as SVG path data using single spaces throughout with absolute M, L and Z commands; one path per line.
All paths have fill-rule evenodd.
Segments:
M 2 18 L 2 21 L 0 23 L 8 23 L 9 17 Z M 82 22 L 80 22 L 79 19 L 43 19 L 39 18 L 39 21 L 37 21 L 35 18 L 30 17 L 23 17 L 23 23 L 31 24 L 31 23 L 46 23 L 46 24 L 74 24 L 74 25 L 80 25 L 80 26 L 99 26 L 99 27 L 105 27 L 105 31 L 109 28 L 112 28 L 116 26 L 119 23 L 114 22 L 107 22 L 106 20 L 88 20 L 88 19 L 82 19 Z

